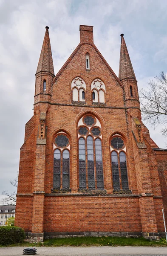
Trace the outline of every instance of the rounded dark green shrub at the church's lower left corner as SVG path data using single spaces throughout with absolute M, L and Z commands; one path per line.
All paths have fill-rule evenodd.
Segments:
M 0 245 L 8 245 L 23 242 L 25 233 L 21 227 L 0 227 Z

